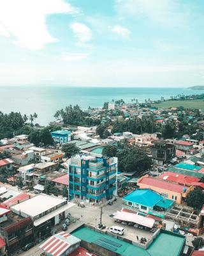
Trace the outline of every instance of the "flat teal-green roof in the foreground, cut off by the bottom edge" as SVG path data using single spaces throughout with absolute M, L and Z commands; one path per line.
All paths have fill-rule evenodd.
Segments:
M 149 248 L 145 250 L 87 227 L 78 228 L 71 234 L 82 241 L 99 244 L 99 246 L 122 256 L 179 256 L 186 240 L 184 236 L 161 230 Z

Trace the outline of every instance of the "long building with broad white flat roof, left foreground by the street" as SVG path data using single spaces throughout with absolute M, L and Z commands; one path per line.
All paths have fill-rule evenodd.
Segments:
M 74 204 L 56 196 L 40 194 L 11 207 L 16 214 L 30 217 L 34 225 L 34 236 L 50 234 L 50 230 L 68 216 L 68 210 Z

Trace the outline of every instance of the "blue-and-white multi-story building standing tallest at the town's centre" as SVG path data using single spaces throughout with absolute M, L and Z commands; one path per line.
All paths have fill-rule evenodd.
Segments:
M 98 203 L 117 195 L 117 157 L 69 159 L 69 198 Z

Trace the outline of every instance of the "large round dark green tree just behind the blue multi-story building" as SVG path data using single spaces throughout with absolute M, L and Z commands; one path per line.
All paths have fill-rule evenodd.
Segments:
M 117 152 L 119 169 L 122 172 L 136 171 L 137 175 L 149 170 L 152 165 L 152 159 L 147 156 L 143 148 L 136 146 L 125 147 Z

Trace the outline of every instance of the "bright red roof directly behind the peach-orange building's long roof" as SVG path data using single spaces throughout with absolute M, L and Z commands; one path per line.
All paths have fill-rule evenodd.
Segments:
M 187 176 L 179 173 L 173 173 L 173 172 L 165 172 L 163 175 L 159 176 L 159 179 L 177 182 L 182 185 L 190 185 L 192 182 L 200 181 L 200 179 L 196 177 Z

